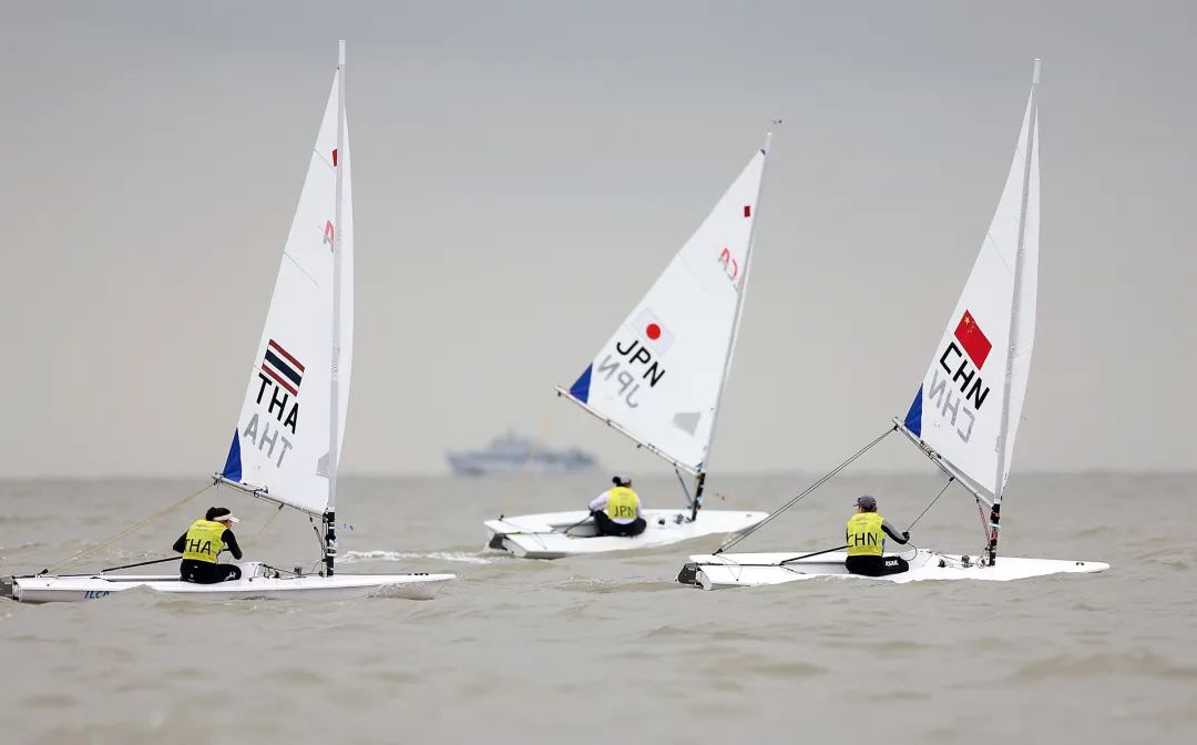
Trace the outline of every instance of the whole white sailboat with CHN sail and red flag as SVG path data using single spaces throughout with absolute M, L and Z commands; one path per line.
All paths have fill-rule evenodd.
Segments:
M 907 571 L 873 577 L 876 580 L 1008 581 L 1110 568 L 1101 562 L 998 559 L 997 555 L 1002 499 L 1010 474 L 1014 437 L 1021 419 L 1035 333 L 1039 285 L 1038 87 L 1039 60 L 1035 60 L 1031 97 L 994 222 L 906 416 L 895 418 L 885 434 L 790 502 L 800 501 L 892 432 L 905 435 L 942 471 L 948 479 L 944 490 L 958 483 L 972 493 L 985 527 L 980 553 L 961 556 L 909 549 L 905 555 L 899 555 L 909 562 Z M 739 541 L 727 541 L 713 555 L 691 556 L 678 581 L 716 589 L 779 585 L 821 576 L 856 576 L 849 575 L 844 568 L 846 553 L 837 549 L 727 553 L 725 549 L 735 543 Z

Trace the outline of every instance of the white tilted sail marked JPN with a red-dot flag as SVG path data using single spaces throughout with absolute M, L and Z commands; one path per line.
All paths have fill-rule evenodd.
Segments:
M 703 470 L 730 368 L 766 149 L 567 392 L 693 473 Z

